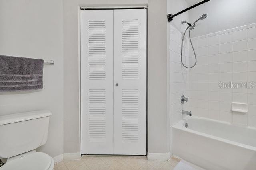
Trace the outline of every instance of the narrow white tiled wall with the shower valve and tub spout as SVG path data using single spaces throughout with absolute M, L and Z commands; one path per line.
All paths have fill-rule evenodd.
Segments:
M 189 96 L 189 70 L 182 66 L 180 62 L 181 53 L 181 41 L 182 33 L 172 24 L 170 24 L 170 125 L 174 125 L 180 119 L 182 119 L 181 110 L 189 110 L 189 102 L 184 104 L 180 103 L 180 97 L 184 94 L 186 97 Z M 184 41 L 183 61 L 184 64 L 189 65 L 189 46 L 188 38 Z M 202 49 L 200 53 L 204 55 L 206 47 L 201 48 L 206 42 L 194 42 L 194 47 Z M 207 45 L 206 45 L 207 46 Z M 191 61 L 194 62 L 194 61 Z M 207 70 L 207 68 L 205 68 Z M 204 75 L 207 78 L 207 74 Z M 198 81 L 198 76 L 193 77 L 194 80 Z

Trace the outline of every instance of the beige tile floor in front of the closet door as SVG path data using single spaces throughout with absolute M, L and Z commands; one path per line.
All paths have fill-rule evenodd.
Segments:
M 147 160 L 137 156 L 82 156 L 81 160 L 64 160 L 54 170 L 172 170 L 180 159 Z

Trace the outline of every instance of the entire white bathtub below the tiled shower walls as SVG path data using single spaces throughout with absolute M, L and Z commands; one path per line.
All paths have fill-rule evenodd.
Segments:
M 189 116 L 172 127 L 172 151 L 207 170 L 256 170 L 256 128 Z

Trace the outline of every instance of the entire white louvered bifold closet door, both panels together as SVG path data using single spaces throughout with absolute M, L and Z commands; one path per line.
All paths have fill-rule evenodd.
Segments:
M 81 153 L 146 155 L 146 9 L 80 14 Z

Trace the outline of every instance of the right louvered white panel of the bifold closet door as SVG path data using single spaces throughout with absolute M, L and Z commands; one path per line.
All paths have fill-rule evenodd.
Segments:
M 146 16 L 114 10 L 114 154 L 146 155 Z

